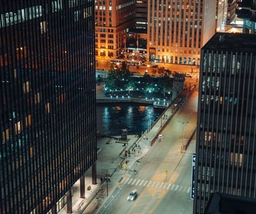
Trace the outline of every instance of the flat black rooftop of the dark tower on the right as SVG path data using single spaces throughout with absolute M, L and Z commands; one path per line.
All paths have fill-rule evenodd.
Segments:
M 202 49 L 256 52 L 256 35 L 247 33 L 215 33 Z

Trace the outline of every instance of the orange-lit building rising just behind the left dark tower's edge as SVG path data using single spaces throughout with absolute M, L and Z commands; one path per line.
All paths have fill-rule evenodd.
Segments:
M 129 29 L 135 26 L 135 1 L 95 1 L 94 13 L 96 58 L 117 58 L 125 51 Z

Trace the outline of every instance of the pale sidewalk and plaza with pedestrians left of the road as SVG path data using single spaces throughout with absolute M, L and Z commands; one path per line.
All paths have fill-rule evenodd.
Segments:
M 109 200 L 107 195 L 113 193 L 119 180 L 126 173 L 136 171 L 136 161 L 147 154 L 150 146 L 157 140 L 157 136 L 161 133 L 162 128 L 168 124 L 168 120 L 184 104 L 188 95 L 189 92 L 184 90 L 174 101 L 176 105 L 166 108 L 148 133 L 145 132 L 141 137 L 135 135 L 127 136 L 127 144 L 125 146 L 123 142 L 115 138 L 97 137 L 97 184 L 92 185 L 91 169 L 88 169 L 85 173 L 85 198 L 80 198 L 80 181 L 77 181 L 72 188 L 72 213 L 92 214 L 99 211 L 101 205 Z M 130 157 L 125 156 L 125 150 L 130 150 Z M 119 166 L 121 166 L 120 169 Z M 101 183 L 101 178 L 104 178 L 105 174 L 110 175 L 110 181 Z M 90 190 L 87 190 L 88 187 L 90 187 Z M 101 188 L 103 193 L 100 191 Z M 66 205 L 58 213 L 66 214 Z

